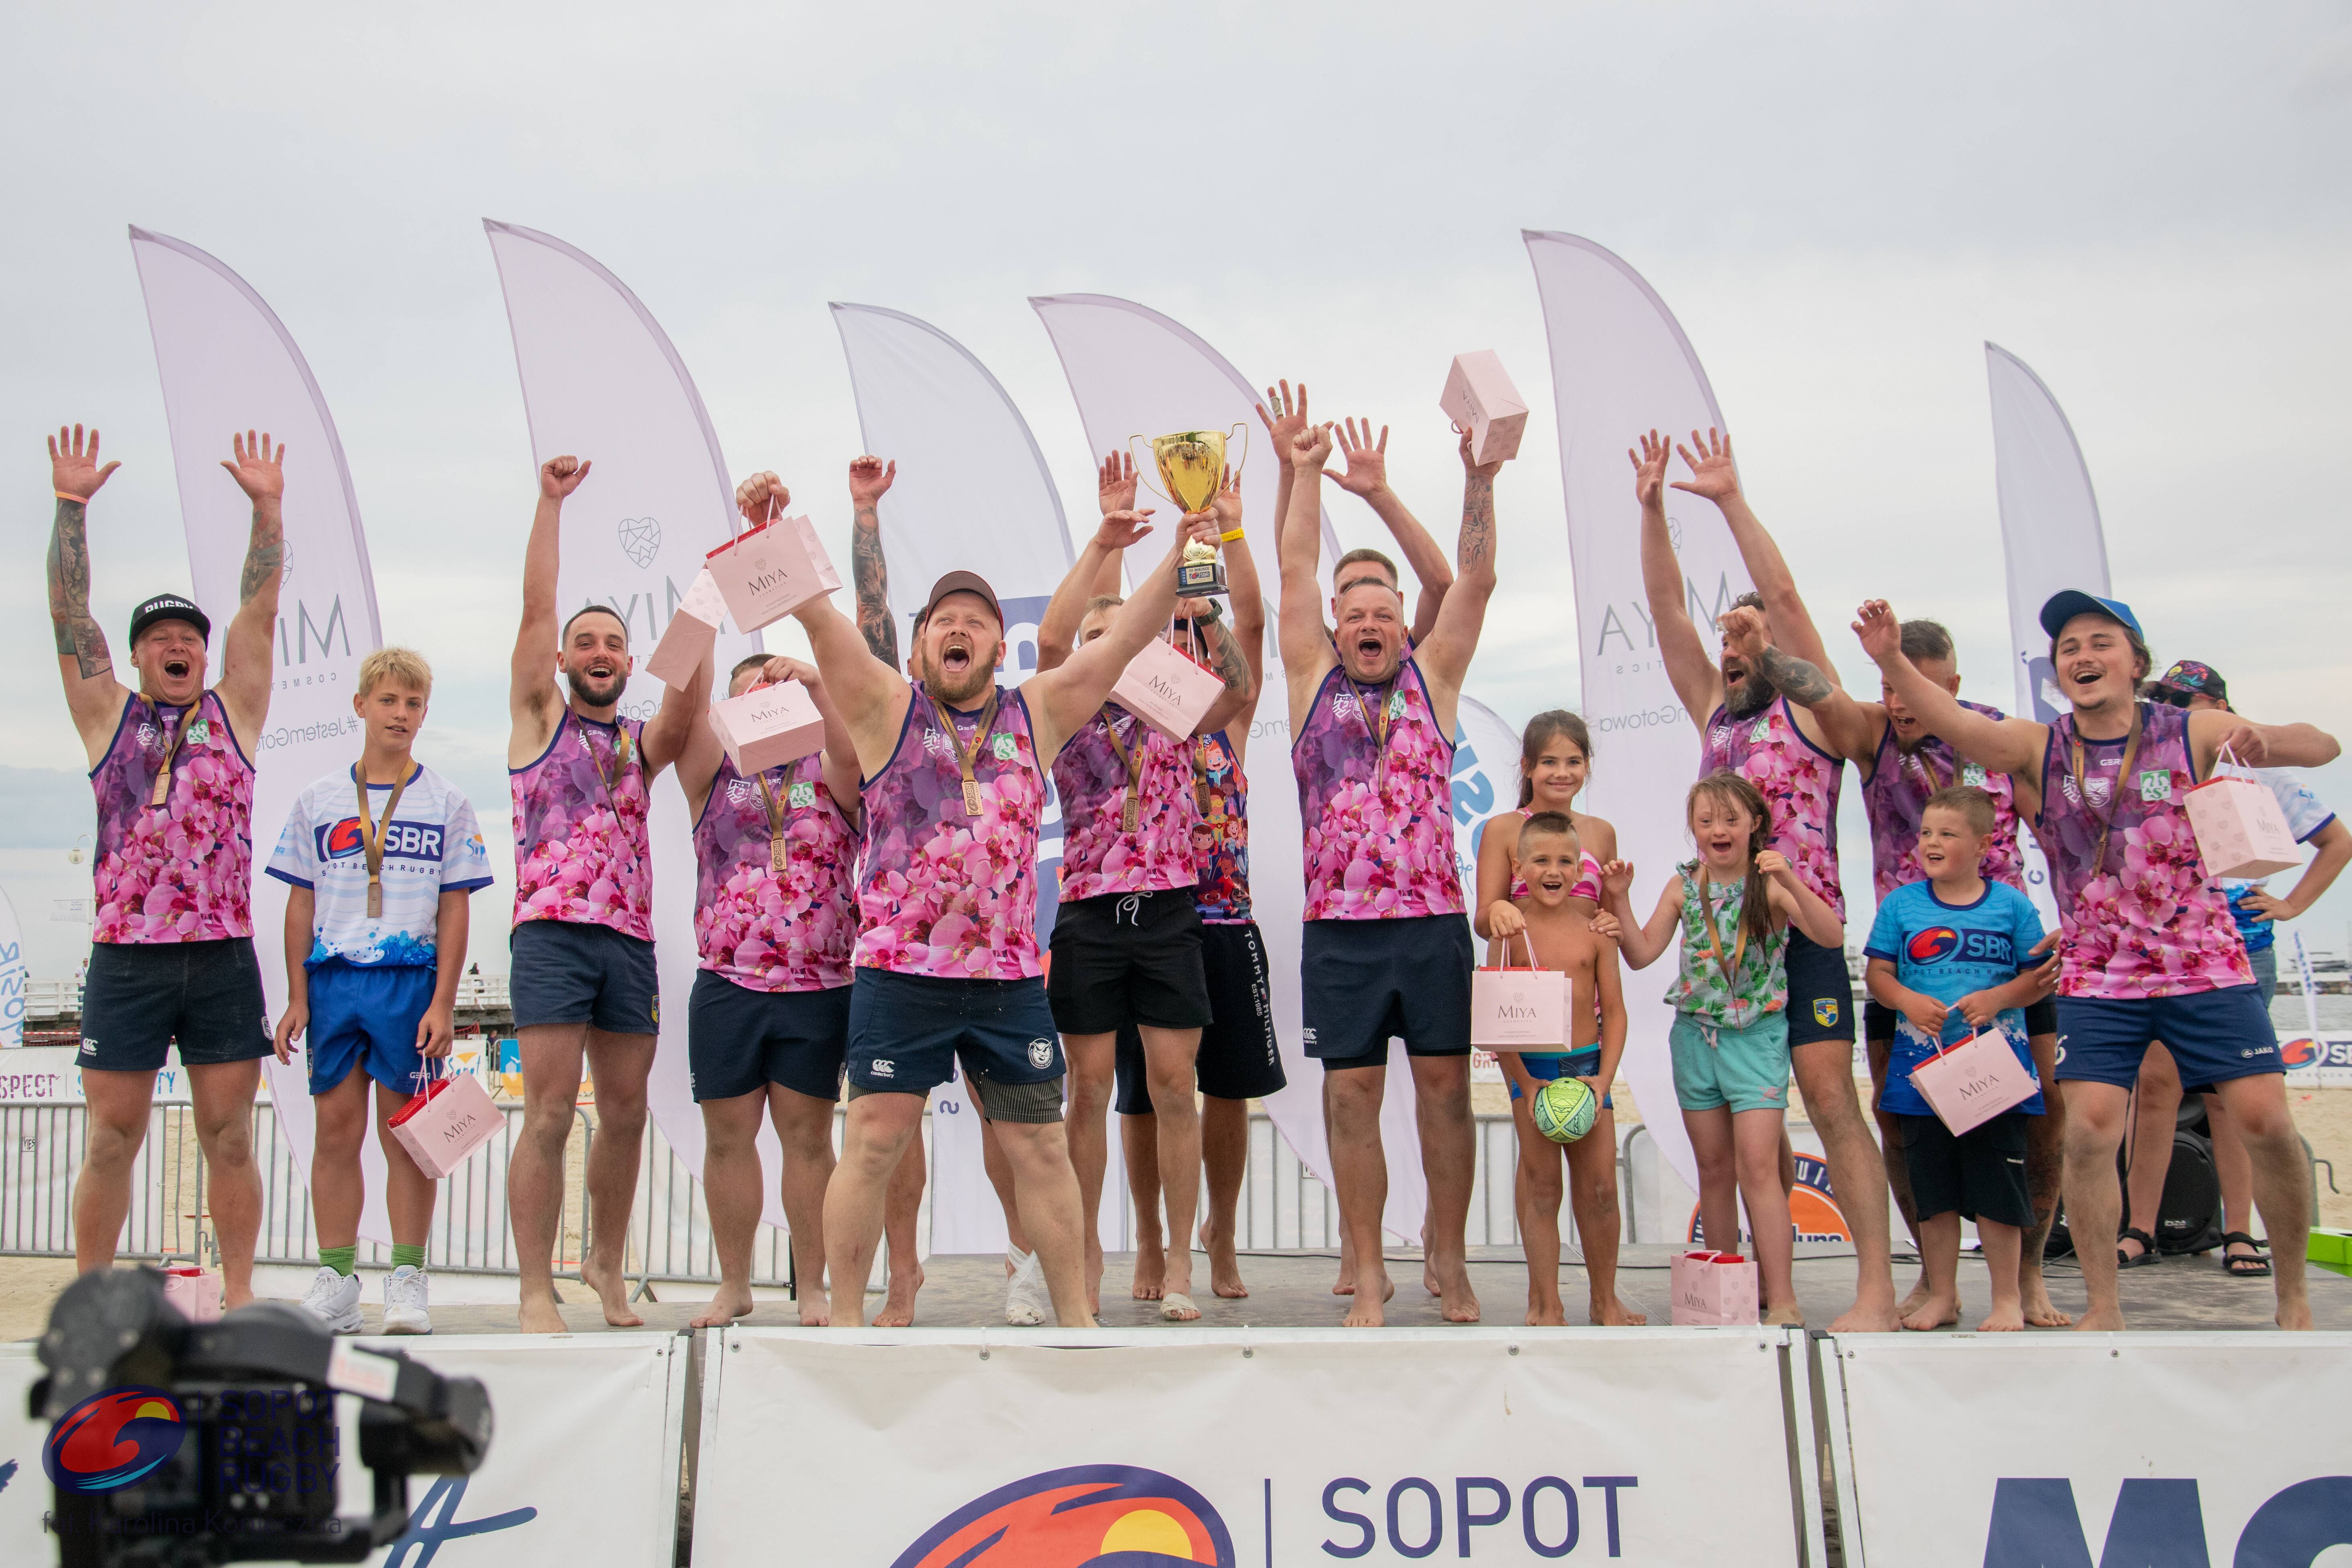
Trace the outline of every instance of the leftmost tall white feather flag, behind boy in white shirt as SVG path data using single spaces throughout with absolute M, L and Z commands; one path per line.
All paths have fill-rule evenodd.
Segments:
M 287 811 L 303 788 L 360 759 L 350 708 L 360 658 L 383 642 L 367 531 L 350 489 L 343 442 L 327 397 L 285 322 L 252 284 L 205 252 L 132 228 L 132 259 L 155 336 L 155 369 L 172 430 L 179 512 L 188 534 L 195 602 L 212 616 L 212 675 L 238 611 L 238 576 L 254 508 L 228 475 L 230 433 L 268 430 L 287 447 L 285 578 L 278 588 L 270 715 L 259 736 L 238 736 L 254 764 L 254 954 L 270 1020 L 285 1009 L 287 884 L 263 875 Z M 263 1060 L 278 1128 L 310 1173 L 310 1081 L 303 1058 Z M 360 1234 L 390 1241 L 383 1213 L 383 1150 L 362 1145 L 367 1208 Z

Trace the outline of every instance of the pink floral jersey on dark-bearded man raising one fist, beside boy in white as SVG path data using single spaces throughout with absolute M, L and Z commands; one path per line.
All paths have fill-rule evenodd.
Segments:
M 614 755 L 621 733 L 628 733 L 628 766 Z M 600 724 L 567 708 L 539 762 L 508 769 L 517 926 L 564 919 L 654 940 L 642 741 L 637 719 Z

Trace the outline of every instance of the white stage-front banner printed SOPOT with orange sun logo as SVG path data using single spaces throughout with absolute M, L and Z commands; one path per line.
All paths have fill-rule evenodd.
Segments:
M 1778 1328 L 713 1333 L 708 1568 L 1799 1561 Z

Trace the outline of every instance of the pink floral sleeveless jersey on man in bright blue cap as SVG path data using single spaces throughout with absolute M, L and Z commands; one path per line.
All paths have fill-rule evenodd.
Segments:
M 2190 715 L 2140 703 L 2140 748 L 2124 769 L 2126 741 L 2082 743 L 2074 785 L 2074 715 L 2051 724 L 2042 752 L 2042 849 L 2051 860 L 2060 997 L 2185 997 L 2253 985 L 2246 943 L 2230 900 L 2206 877 L 2190 832 L 2187 792 L 2197 783 Z M 2084 795 L 2091 799 L 2084 802 Z M 2110 813 L 2112 811 L 2112 820 Z M 2098 837 L 2107 832 L 2100 863 Z

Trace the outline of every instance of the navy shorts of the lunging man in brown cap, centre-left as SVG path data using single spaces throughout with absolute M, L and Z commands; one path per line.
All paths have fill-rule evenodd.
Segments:
M 1058 1084 L 1061 1034 L 1044 980 L 943 980 L 858 969 L 849 983 L 849 1098 L 861 1093 L 931 1093 L 962 1060 L 981 1114 L 993 1121 L 1058 1121 L 1044 1095 L 990 1100 L 990 1086 Z

